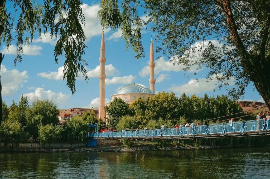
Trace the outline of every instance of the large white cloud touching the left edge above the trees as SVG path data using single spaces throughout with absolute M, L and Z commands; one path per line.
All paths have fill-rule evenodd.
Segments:
M 14 95 L 27 82 L 27 71 L 8 70 L 1 64 L 2 95 Z

